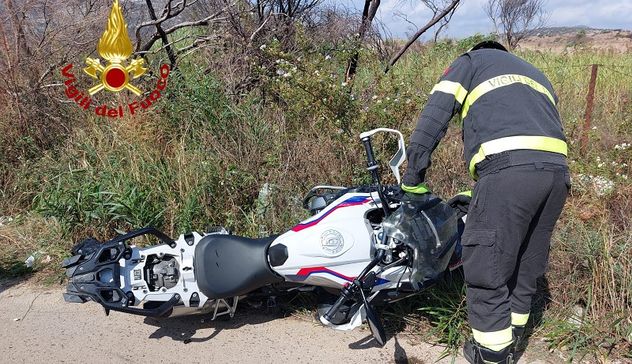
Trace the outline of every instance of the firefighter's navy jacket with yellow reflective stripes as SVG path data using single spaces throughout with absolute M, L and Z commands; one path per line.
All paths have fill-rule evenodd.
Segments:
M 546 76 L 521 58 L 497 49 L 462 55 L 431 91 L 411 137 L 403 184 L 423 182 L 430 155 L 457 113 L 474 178 L 476 164 L 496 153 L 535 150 L 563 158 L 567 147 L 556 104 Z

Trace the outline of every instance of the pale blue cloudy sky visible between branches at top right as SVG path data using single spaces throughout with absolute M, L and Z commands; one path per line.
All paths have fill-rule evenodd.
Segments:
M 632 0 L 544 0 L 547 26 L 578 26 L 632 30 Z M 462 0 L 444 35 L 462 38 L 494 30 L 483 11 L 487 0 Z M 364 0 L 330 0 L 362 11 Z M 398 15 L 400 14 L 400 15 Z M 405 19 L 401 16 L 405 14 Z M 377 18 L 395 38 L 407 38 L 430 20 L 432 13 L 419 0 L 382 0 Z M 407 20 L 407 21 L 406 21 Z M 415 24 L 413 26 L 409 22 Z

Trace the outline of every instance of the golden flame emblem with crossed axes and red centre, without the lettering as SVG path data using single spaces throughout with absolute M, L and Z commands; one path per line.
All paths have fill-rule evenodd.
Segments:
M 101 39 L 99 39 L 97 51 L 101 58 L 108 61 L 108 64 L 103 66 L 98 58 L 86 58 L 87 67 L 83 71 L 101 82 L 90 88 L 88 93 L 94 95 L 103 89 L 111 92 L 128 89 L 136 96 L 140 96 L 142 91 L 129 82 L 144 75 L 147 68 L 144 67 L 145 61 L 142 58 L 134 59 L 129 65 L 125 65 L 125 61 L 132 55 L 133 49 L 118 0 L 114 0 L 108 24 Z

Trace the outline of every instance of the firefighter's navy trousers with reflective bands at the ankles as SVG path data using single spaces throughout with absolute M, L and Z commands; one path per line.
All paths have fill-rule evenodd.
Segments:
M 565 163 L 479 170 L 462 244 L 468 318 L 483 346 L 508 346 L 512 316 L 528 317 L 569 188 Z

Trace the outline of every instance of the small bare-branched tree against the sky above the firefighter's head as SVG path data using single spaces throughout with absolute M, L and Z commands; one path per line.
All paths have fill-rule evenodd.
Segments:
M 530 34 L 530 30 L 546 24 L 544 0 L 489 0 L 485 5 L 487 16 L 494 22 L 496 32 L 509 48 Z

